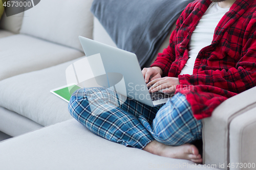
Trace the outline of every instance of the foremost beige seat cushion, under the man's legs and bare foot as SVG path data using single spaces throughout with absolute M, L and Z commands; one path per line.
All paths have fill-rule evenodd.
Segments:
M 5 140 L 0 153 L 1 169 L 199 169 L 188 160 L 105 140 L 75 119 Z

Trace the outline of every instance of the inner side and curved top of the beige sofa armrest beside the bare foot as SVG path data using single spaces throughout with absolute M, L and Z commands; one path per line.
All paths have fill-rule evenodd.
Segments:
M 203 119 L 203 162 L 229 163 L 229 125 L 233 118 L 256 107 L 256 87 L 224 101 L 211 117 Z M 227 169 L 225 166 L 222 169 Z

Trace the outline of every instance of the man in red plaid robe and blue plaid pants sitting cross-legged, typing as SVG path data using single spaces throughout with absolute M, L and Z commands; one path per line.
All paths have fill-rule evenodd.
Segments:
M 169 46 L 142 74 L 151 92 L 175 91 L 165 105 L 127 99 L 118 106 L 106 88 L 76 91 L 69 111 L 93 133 L 150 153 L 202 162 L 191 143 L 202 118 L 223 101 L 256 85 L 256 2 L 199 0 L 177 21 Z M 89 106 L 101 114 L 93 114 Z

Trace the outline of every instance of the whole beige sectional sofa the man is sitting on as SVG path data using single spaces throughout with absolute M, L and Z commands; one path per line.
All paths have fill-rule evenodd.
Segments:
M 200 167 L 126 148 L 76 122 L 68 103 L 50 90 L 65 85 L 66 68 L 85 57 L 79 35 L 115 43 L 90 13 L 92 0 L 71 2 L 44 0 L 1 19 L 0 131 L 13 138 L 0 142 L 0 169 L 229 169 L 229 162 L 234 163 L 230 169 L 246 169 L 249 163 L 255 165 L 256 88 L 223 102 L 203 120 L 205 165 Z M 167 44 L 168 38 L 159 51 Z

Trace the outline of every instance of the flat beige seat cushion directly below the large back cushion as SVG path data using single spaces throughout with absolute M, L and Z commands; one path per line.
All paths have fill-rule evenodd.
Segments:
M 23 34 L 0 38 L 0 80 L 83 56 L 80 51 Z

